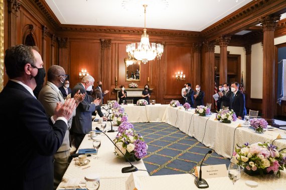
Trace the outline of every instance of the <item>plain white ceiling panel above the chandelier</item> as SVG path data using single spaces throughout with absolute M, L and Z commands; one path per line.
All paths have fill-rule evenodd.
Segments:
M 146 28 L 200 32 L 252 0 L 45 1 L 61 24 L 144 28 L 147 4 Z

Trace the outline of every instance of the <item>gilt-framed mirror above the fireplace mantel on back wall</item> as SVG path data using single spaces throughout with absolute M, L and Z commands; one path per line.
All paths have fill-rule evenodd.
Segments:
M 140 81 L 141 66 L 140 61 L 124 59 L 125 63 L 125 79 L 126 81 Z

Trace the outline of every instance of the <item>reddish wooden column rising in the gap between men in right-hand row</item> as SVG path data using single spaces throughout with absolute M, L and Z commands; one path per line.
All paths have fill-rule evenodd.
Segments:
M 205 91 L 205 103 L 212 103 L 214 108 L 214 101 L 212 95 L 214 94 L 214 47 L 215 43 L 206 42 L 202 48 L 202 64 L 201 64 L 201 88 Z

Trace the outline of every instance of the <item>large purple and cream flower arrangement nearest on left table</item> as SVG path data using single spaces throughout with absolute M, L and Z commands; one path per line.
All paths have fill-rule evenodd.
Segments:
M 118 134 L 113 142 L 128 157 L 130 161 L 140 160 L 147 155 L 148 145 L 144 138 L 133 129 L 129 122 L 122 122 L 118 127 Z M 115 147 L 115 154 L 123 157 L 122 153 Z

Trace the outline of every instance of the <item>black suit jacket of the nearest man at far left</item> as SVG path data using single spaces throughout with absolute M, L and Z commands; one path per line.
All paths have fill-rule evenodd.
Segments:
M 42 104 L 24 86 L 11 80 L 0 93 L 0 107 L 0 119 L 9 121 L 2 133 L 13 132 L 3 152 L 17 149 L 18 155 L 10 156 L 13 164 L 9 164 L 3 180 L 13 184 L 14 189 L 53 189 L 53 155 L 63 142 L 66 123 L 57 120 L 51 125 Z

